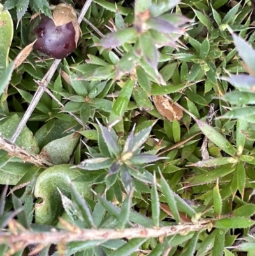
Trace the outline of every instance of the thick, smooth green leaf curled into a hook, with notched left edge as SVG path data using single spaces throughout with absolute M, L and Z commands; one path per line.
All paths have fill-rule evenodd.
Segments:
M 34 196 L 41 198 L 43 202 L 35 204 L 36 223 L 55 225 L 58 216 L 62 215 L 61 195 L 57 188 L 66 197 L 70 197 L 69 181 L 82 175 L 80 170 L 70 169 L 71 166 L 55 165 L 43 171 L 38 177 L 34 187 Z M 87 183 L 73 182 L 73 186 L 78 193 L 91 198 L 91 189 Z

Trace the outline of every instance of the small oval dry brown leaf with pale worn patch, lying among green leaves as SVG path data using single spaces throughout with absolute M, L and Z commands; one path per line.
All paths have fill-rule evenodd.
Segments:
M 166 117 L 169 121 L 182 119 L 183 112 L 177 107 L 177 105 L 171 103 L 168 99 L 164 98 L 163 95 L 153 96 L 153 102 L 157 108 L 157 111 L 161 116 Z

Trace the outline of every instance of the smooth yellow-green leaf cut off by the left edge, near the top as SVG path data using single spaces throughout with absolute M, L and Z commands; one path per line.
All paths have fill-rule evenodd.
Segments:
M 11 1 L 14 2 L 14 1 Z M 6 3 L 5 3 L 6 4 Z M 2 69 L 8 66 L 8 55 L 13 38 L 13 22 L 9 11 L 3 11 L 3 5 L 0 4 L 0 75 Z M 1 83 L 0 83 L 1 84 Z M 1 84 L 1 87 L 4 86 Z M 3 92 L 0 91 L 0 94 Z

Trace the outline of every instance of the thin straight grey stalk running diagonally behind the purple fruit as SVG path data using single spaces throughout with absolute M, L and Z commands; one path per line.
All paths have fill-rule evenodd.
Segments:
M 84 7 L 82 8 L 82 11 L 80 11 L 80 16 L 78 17 L 78 23 L 79 24 L 82 22 L 82 19 L 84 18 L 84 15 L 87 12 L 87 10 L 89 9 L 89 6 L 91 5 L 91 3 L 92 3 L 92 0 L 87 0 L 86 3 L 84 4 Z M 61 59 L 55 59 L 52 66 L 50 67 L 48 72 L 45 74 L 43 79 L 41 80 L 41 83 L 43 84 L 43 86 L 45 86 L 45 87 L 48 86 L 50 80 L 52 79 L 52 77 L 55 73 L 55 71 L 57 70 L 57 67 L 59 66 L 59 63 L 61 63 Z M 16 140 L 18 139 L 18 136 L 22 132 L 22 130 L 23 130 L 25 124 L 27 123 L 29 117 L 31 117 L 31 114 L 33 113 L 34 109 L 36 108 L 36 105 L 40 101 L 41 96 L 43 95 L 43 92 L 44 92 L 43 88 L 38 87 L 38 89 L 36 90 L 36 93 L 34 94 L 34 97 L 31 101 L 31 103 L 29 104 L 29 107 L 28 107 L 27 111 L 25 112 L 24 116 L 22 117 L 22 120 L 18 124 L 17 129 L 15 130 L 15 132 L 13 133 L 13 136 L 11 137 L 11 143 L 14 144 L 16 142 Z

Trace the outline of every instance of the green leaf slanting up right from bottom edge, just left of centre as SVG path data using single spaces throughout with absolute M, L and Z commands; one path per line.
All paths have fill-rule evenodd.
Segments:
M 135 238 L 131 239 L 125 245 L 120 246 L 117 250 L 110 254 L 110 256 L 129 256 L 131 253 L 135 252 L 147 238 Z

